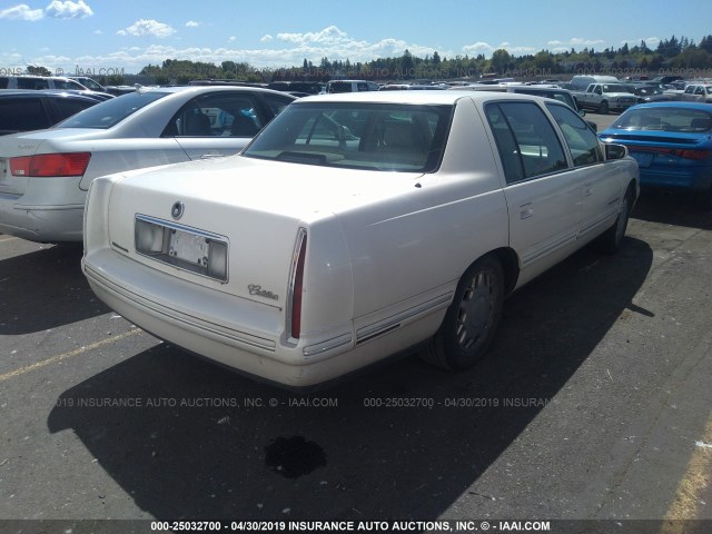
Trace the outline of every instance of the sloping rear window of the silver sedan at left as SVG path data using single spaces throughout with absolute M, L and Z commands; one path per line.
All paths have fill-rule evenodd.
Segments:
M 161 91 L 129 92 L 85 109 L 58 123 L 57 128 L 111 128 L 129 115 L 168 95 L 170 93 Z

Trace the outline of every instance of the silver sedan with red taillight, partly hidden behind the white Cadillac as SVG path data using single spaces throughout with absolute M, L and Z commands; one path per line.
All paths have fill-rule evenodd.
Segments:
M 293 100 L 256 87 L 141 89 L 53 128 L 0 137 L 0 233 L 81 243 L 96 177 L 233 156 Z

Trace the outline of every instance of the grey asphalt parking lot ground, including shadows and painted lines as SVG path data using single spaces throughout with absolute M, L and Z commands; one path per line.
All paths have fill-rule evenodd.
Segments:
M 587 118 L 602 130 L 615 116 Z M 80 258 L 0 235 L 2 532 L 103 518 L 712 532 L 712 215 L 686 198 L 643 197 L 620 254 L 586 248 L 513 295 L 474 369 L 406 357 L 309 395 L 141 332 L 93 297 Z

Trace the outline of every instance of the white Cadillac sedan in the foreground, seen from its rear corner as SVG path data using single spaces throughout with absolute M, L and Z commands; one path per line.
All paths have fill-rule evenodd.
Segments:
M 96 294 L 190 352 L 291 387 L 418 347 L 487 350 L 505 296 L 596 239 L 639 195 L 626 149 L 537 97 L 307 97 L 238 156 L 95 180 Z

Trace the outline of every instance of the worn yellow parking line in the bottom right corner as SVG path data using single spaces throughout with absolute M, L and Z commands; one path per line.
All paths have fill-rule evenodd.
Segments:
M 708 419 L 702 439 L 688 465 L 688 472 L 678 485 L 678 494 L 665 514 L 662 534 L 682 534 L 682 520 L 696 520 L 702 506 L 702 492 L 712 484 L 712 416 Z

